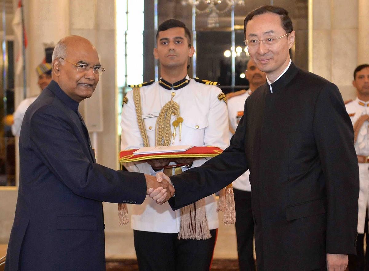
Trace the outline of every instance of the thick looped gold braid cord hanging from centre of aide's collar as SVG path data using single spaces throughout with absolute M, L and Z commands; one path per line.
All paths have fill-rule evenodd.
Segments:
M 177 119 L 173 122 L 173 138 L 176 136 L 176 126 L 180 125 L 180 123 L 177 123 L 177 125 L 174 124 L 178 122 L 178 119 L 183 121 L 179 116 L 179 105 L 173 101 L 173 97 L 174 95 L 172 94 L 172 99 L 163 106 L 156 120 L 156 146 L 170 145 L 170 139 L 172 137 L 170 118 L 172 115 L 175 115 Z

